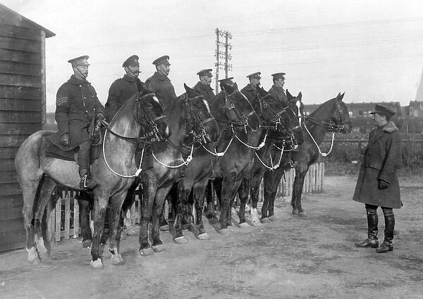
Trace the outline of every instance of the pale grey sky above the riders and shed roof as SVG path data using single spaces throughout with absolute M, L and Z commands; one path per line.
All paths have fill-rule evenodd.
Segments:
M 423 68 L 423 1 L 186 0 L 81 1 L 0 0 L 54 32 L 46 39 L 47 111 L 73 73 L 67 62 L 89 55 L 89 80 L 105 104 L 122 63 L 140 56 L 140 79 L 152 61 L 170 56 L 176 94 L 194 86 L 197 71 L 213 68 L 216 28 L 231 33 L 232 70 L 238 87 L 246 75 L 286 73 L 285 87 L 302 92 L 305 104 L 320 104 L 338 92 L 344 102 L 415 100 Z M 219 78 L 225 72 L 219 71 Z M 215 88 L 214 82 L 212 87 Z

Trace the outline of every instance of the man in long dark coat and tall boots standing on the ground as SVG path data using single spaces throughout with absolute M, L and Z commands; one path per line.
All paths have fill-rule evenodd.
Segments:
M 396 171 L 401 164 L 401 138 L 398 128 L 391 121 L 395 114 L 391 108 L 376 104 L 373 121 L 376 128 L 369 134 L 369 143 L 355 186 L 353 200 L 364 203 L 367 212 L 367 239 L 355 243 L 357 247 L 378 248 L 377 208 L 381 207 L 385 218 L 384 243 L 376 252 L 393 250 L 395 216 L 393 209 L 403 205 Z

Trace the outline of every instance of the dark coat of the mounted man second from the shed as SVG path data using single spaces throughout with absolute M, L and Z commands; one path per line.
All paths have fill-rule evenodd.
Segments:
M 129 75 L 123 75 L 111 83 L 109 88 L 109 97 L 105 105 L 106 121 L 110 122 L 116 112 L 125 102 L 142 88 L 144 83 L 139 78 L 133 78 Z

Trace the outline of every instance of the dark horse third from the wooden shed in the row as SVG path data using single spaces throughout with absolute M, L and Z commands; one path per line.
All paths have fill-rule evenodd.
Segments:
M 259 117 L 247 98 L 245 98 L 241 92 L 235 90 L 231 85 L 224 85 L 223 88 L 225 89 L 224 91 L 219 92 L 219 94 L 216 94 L 215 97 L 209 100 L 210 111 L 219 124 L 219 135 L 221 138 L 219 138 L 218 142 L 204 145 L 195 152 L 192 163 L 188 164 L 185 170 L 185 176 L 183 176 L 178 183 L 178 188 L 176 189 L 177 194 L 173 194 L 173 196 L 178 196 L 178 217 L 175 224 L 176 243 L 186 242 L 183 237 L 181 220 L 184 219 L 184 217 L 187 219 L 187 217 L 183 212 L 188 212 L 188 223 L 191 223 L 191 217 L 194 218 L 191 214 L 192 209 L 190 205 L 188 205 L 188 195 L 190 195 L 191 189 L 192 202 L 197 215 L 195 219 L 197 238 L 205 239 L 208 237 L 202 222 L 204 190 L 209 181 L 209 176 L 212 173 L 214 164 L 216 164 L 219 157 L 225 154 L 224 150 L 223 152 L 216 152 L 216 145 L 222 143 L 228 145 L 229 142 L 227 138 L 225 139 L 222 137 L 221 133 L 230 130 L 232 135 L 233 128 L 235 130 L 245 130 L 249 127 L 252 131 L 256 131 L 260 127 Z M 223 134 L 223 136 L 224 135 L 225 134 Z

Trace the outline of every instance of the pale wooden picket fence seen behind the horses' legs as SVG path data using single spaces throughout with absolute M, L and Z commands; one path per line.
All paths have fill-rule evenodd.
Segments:
M 295 178 L 295 169 L 286 171 L 285 179 L 282 178 L 279 183 L 276 197 L 290 197 L 293 190 Z M 324 190 L 324 163 L 317 163 L 310 166 L 307 176 L 305 177 L 303 193 L 313 193 Z M 138 191 L 138 190 L 137 190 Z M 75 196 L 78 191 L 68 190 L 67 188 L 58 188 L 52 196 L 58 197 L 56 205 L 51 206 L 51 201 L 47 205 L 47 213 L 50 214 L 48 221 L 49 237 L 52 242 L 68 240 L 69 238 L 78 238 L 80 233 L 80 210 L 78 200 Z M 130 209 L 129 219 L 131 224 L 140 223 L 141 205 L 140 197 L 142 194 L 135 192 L 135 202 Z M 259 202 L 263 201 L 263 188 L 260 186 Z M 166 213 L 168 215 L 168 207 L 166 204 Z

